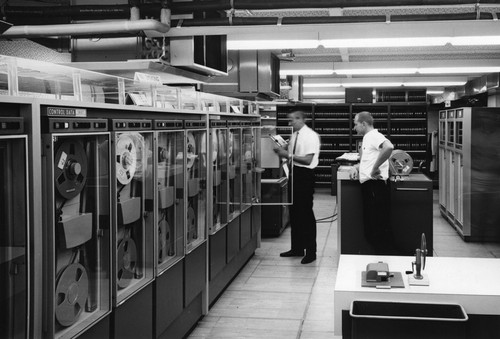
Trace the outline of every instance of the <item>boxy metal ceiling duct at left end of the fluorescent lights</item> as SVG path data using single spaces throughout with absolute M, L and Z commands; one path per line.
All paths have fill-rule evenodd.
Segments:
M 204 92 L 270 100 L 280 93 L 280 60 L 269 51 L 229 51 L 227 77 L 211 78 Z

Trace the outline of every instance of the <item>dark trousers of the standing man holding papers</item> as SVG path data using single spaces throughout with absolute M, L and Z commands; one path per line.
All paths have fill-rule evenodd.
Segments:
M 292 250 L 316 254 L 316 217 L 313 212 L 314 170 L 293 167 L 293 205 L 290 207 Z

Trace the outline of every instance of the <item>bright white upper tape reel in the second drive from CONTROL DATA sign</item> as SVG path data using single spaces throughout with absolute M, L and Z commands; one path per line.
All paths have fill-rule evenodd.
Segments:
M 127 185 L 134 178 L 137 169 L 137 148 L 128 135 L 119 135 L 116 141 L 116 179 Z

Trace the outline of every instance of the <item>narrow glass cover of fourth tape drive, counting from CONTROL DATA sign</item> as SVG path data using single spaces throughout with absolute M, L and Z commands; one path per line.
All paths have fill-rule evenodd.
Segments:
M 207 132 L 186 131 L 187 253 L 202 244 L 207 229 Z

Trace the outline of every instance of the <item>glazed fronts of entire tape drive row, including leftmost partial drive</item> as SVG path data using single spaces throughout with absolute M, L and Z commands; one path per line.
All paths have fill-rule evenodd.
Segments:
M 250 128 L 216 129 L 210 139 L 196 118 L 60 112 L 42 108 L 42 182 L 33 183 L 43 196 L 43 332 L 54 338 L 83 333 L 206 239 L 208 166 L 212 231 L 256 191 Z M 23 118 L 0 117 L 0 127 L 0 337 L 24 338 L 29 136 Z

